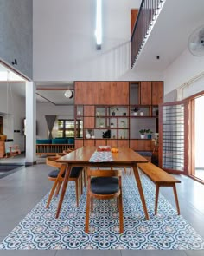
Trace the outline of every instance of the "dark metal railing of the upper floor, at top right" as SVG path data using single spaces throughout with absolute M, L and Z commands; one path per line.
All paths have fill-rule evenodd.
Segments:
M 137 15 L 137 21 L 131 35 L 131 68 L 133 67 L 145 39 L 150 33 L 151 26 L 165 0 L 143 0 Z

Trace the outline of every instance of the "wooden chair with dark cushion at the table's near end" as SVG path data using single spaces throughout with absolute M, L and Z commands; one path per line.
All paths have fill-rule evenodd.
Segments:
M 91 209 L 93 209 L 92 199 L 110 200 L 117 198 L 119 233 L 123 233 L 122 171 L 113 169 L 88 169 L 87 180 L 85 232 L 89 233 L 90 204 Z

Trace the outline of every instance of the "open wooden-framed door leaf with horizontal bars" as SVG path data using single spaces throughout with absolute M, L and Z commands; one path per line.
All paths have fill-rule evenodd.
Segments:
M 187 108 L 185 103 L 162 106 L 161 167 L 173 173 L 186 173 L 187 169 Z

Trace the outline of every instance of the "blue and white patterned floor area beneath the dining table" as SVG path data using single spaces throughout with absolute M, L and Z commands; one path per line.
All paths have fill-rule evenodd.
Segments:
M 161 194 L 158 215 L 154 215 L 155 186 L 143 175 L 141 179 L 150 220 L 144 218 L 134 177 L 124 174 L 123 234 L 118 234 L 115 200 L 94 201 L 90 233 L 85 233 L 86 189 L 77 208 L 74 185 L 70 182 L 59 219 L 54 218 L 58 198 L 46 209 L 47 194 L 3 239 L 0 249 L 204 249 L 201 236 Z

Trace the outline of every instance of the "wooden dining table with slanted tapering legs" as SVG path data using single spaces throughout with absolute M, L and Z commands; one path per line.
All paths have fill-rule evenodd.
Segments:
M 137 154 L 131 148 L 126 147 L 118 147 L 118 153 L 112 153 L 112 161 L 90 161 L 92 154 L 97 151 L 97 147 L 94 146 L 84 146 L 74 150 L 73 152 L 66 154 L 59 158 L 56 161 L 67 164 L 65 178 L 62 184 L 61 196 L 57 207 L 56 218 L 59 217 L 61 212 L 61 205 L 64 200 L 64 196 L 67 190 L 67 183 L 69 174 L 72 170 L 72 167 L 132 167 L 135 175 L 140 199 L 143 204 L 143 211 L 145 214 L 146 220 L 149 220 L 149 215 L 146 207 L 145 198 L 143 195 L 143 187 L 140 180 L 137 163 L 147 162 L 147 160 Z M 56 179 L 57 184 L 57 179 Z

